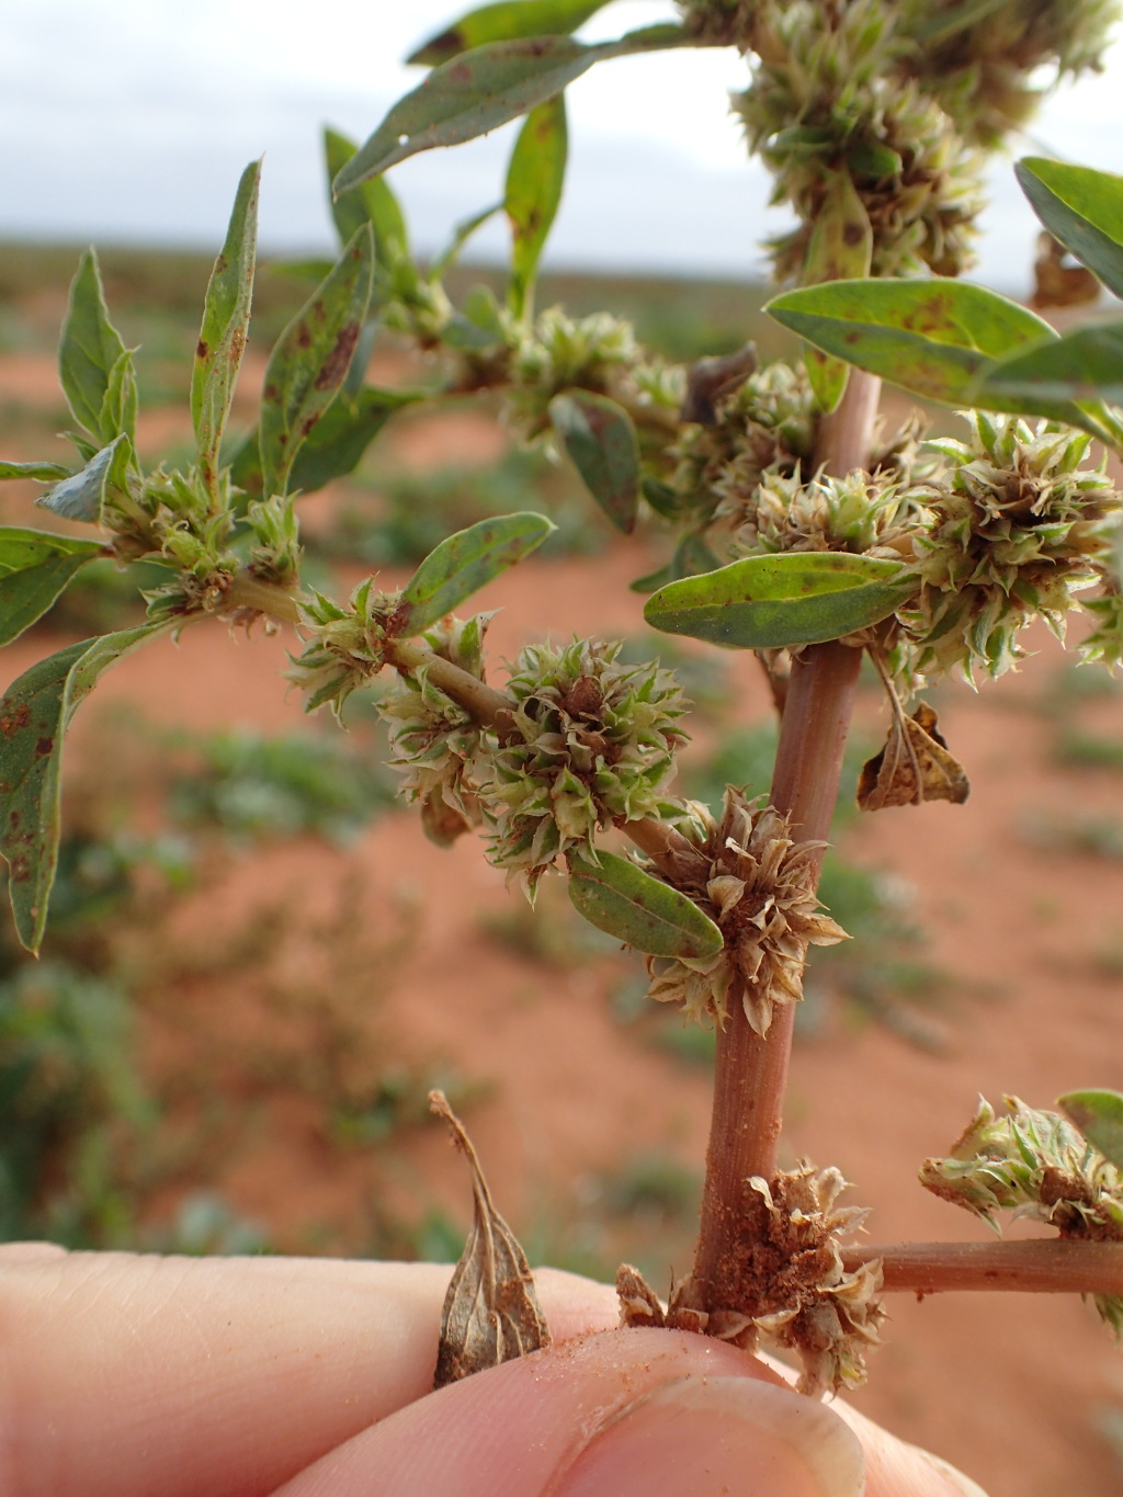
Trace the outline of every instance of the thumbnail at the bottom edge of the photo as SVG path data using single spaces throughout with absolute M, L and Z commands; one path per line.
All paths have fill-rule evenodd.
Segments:
M 551 1497 L 859 1497 L 858 1439 L 821 1403 L 755 1377 L 689 1377 L 626 1404 Z

